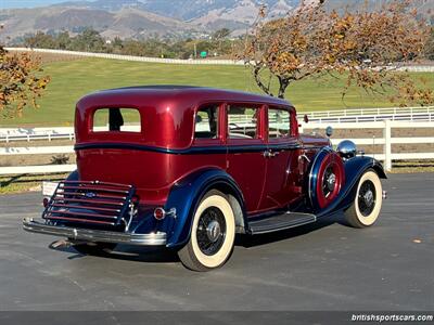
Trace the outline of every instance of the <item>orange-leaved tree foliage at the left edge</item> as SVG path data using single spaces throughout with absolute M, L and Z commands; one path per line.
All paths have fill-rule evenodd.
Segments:
M 42 95 L 50 81 L 40 63 L 28 53 L 11 54 L 0 46 L 0 119 L 21 116 Z

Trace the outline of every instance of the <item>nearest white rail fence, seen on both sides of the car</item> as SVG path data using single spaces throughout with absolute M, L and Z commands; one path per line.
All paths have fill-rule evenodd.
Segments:
M 323 129 L 329 123 L 309 122 L 304 125 L 304 129 Z M 393 160 L 411 160 L 411 159 L 434 159 L 432 153 L 393 153 L 392 144 L 434 144 L 434 136 L 392 136 L 392 129 L 433 129 L 434 121 L 431 122 L 403 122 L 403 121 L 376 121 L 376 122 L 348 122 L 348 123 L 330 123 L 334 129 L 381 129 L 382 138 L 362 138 L 352 139 L 362 148 L 374 145 L 382 145 L 383 150 L 372 154 L 376 159 L 384 161 L 386 170 L 392 169 Z M 343 139 L 332 138 L 333 145 L 336 145 Z M 15 155 L 41 155 L 41 154 L 69 154 L 74 153 L 73 146 L 47 146 L 47 147 L 0 147 L 0 156 Z M 21 167 L 0 167 L 0 174 L 20 174 L 20 173 L 50 173 L 50 172 L 68 172 L 76 168 L 75 165 L 47 165 L 47 166 L 21 166 Z

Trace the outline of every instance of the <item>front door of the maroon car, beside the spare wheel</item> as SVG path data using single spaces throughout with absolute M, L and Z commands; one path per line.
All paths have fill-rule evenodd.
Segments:
M 268 154 L 267 168 L 259 209 L 285 207 L 299 196 L 295 191 L 297 180 L 298 138 L 296 119 L 289 107 L 267 107 L 266 132 Z

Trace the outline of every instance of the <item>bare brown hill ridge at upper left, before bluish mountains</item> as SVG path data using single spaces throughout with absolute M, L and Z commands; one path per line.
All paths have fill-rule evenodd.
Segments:
M 0 24 L 5 27 L 0 37 L 12 39 L 37 30 L 77 32 L 84 27 L 92 27 L 108 38 L 186 37 L 199 31 L 191 24 L 129 6 L 116 12 L 63 5 L 3 10 L 0 12 Z

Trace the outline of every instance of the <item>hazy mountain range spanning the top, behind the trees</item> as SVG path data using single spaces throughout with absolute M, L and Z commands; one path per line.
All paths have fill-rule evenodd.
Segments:
M 318 1 L 318 0 L 309 0 Z M 388 0 L 368 0 L 368 9 L 381 8 Z M 69 1 L 37 9 L 0 11 L 4 37 L 14 39 L 37 30 L 77 32 L 92 27 L 113 38 L 200 37 L 205 38 L 219 28 L 230 28 L 233 36 L 245 32 L 254 22 L 261 4 L 269 18 L 281 17 L 296 9 L 301 0 L 95 0 Z M 361 0 L 329 0 L 329 10 L 356 10 Z M 411 8 L 420 17 L 434 24 L 434 1 L 413 0 Z

